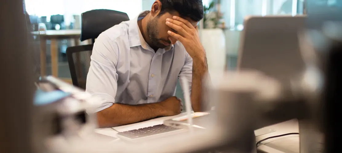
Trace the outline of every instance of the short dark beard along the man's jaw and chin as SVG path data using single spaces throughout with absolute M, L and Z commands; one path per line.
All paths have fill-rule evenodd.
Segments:
M 168 47 L 170 45 L 165 46 L 164 44 L 160 43 L 160 40 L 162 40 L 162 39 L 159 39 L 157 37 L 158 34 L 159 34 L 159 28 L 158 28 L 158 24 L 157 23 L 158 23 L 158 18 L 153 18 L 150 21 L 148 21 L 148 23 L 147 23 L 148 37 L 151 40 L 152 45 L 154 47 L 158 47 L 158 48 L 164 49 L 164 48 L 166 48 L 166 47 Z M 170 40 L 163 40 L 163 41 L 166 41 L 169 44 L 171 44 Z

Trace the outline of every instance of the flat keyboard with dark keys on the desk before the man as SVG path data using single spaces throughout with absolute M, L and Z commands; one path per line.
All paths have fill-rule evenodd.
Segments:
M 125 132 L 119 132 L 116 135 L 124 140 L 129 140 L 133 142 L 139 142 L 140 140 L 147 140 L 153 138 L 159 138 L 164 136 L 170 136 L 177 133 L 184 132 L 184 129 L 174 128 L 171 126 L 166 126 L 164 124 L 149 126 L 146 128 L 130 130 Z

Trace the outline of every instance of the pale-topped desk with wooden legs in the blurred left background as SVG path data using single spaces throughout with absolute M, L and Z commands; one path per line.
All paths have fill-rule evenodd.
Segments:
M 79 46 L 81 30 L 47 30 L 45 33 L 34 31 L 32 35 L 39 36 L 40 39 L 40 75 L 46 75 L 46 40 L 51 40 L 51 68 L 52 75 L 58 78 L 58 51 L 57 39 L 74 39 L 75 46 Z M 70 79 L 66 82 L 71 82 Z

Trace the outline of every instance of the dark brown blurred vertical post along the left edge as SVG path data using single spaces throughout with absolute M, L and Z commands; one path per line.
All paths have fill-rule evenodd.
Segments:
M 0 12 L 0 152 L 32 153 L 34 77 L 23 1 L 0 1 Z

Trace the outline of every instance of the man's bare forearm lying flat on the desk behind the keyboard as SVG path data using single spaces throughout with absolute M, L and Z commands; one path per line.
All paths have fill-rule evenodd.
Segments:
M 136 123 L 162 116 L 157 103 L 141 105 L 113 104 L 97 113 L 100 128 Z

